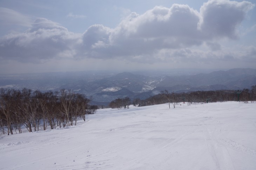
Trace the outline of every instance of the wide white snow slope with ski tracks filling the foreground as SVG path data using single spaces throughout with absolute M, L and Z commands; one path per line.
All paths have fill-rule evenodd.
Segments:
M 2 135 L 0 169 L 255 170 L 256 103 L 101 109 L 78 126 Z

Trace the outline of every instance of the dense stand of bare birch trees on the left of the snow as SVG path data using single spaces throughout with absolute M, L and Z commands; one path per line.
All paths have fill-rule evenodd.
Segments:
M 78 118 L 85 121 L 85 114 L 94 114 L 97 106 L 89 105 L 90 99 L 72 90 L 41 92 L 31 89 L 0 89 L 0 127 L 5 134 L 46 130 L 61 125 L 76 125 Z

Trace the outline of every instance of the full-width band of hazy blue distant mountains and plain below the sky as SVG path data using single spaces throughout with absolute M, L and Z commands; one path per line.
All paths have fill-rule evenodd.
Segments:
M 40 74 L 40 75 L 39 75 Z M 24 78 L 25 77 L 25 78 Z M 0 75 L 0 87 L 45 90 L 72 89 L 92 96 L 94 104 L 107 104 L 115 98 L 141 98 L 159 94 L 162 90 L 180 93 L 197 90 L 251 88 L 256 84 L 256 69 L 234 68 L 194 75 L 146 76 L 133 73 L 34 73 Z

